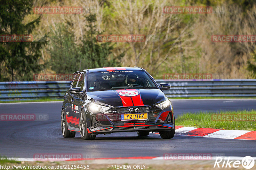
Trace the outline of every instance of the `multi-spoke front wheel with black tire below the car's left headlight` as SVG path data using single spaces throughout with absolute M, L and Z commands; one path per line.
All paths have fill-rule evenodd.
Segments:
M 87 124 L 85 120 L 85 113 L 84 110 L 81 111 L 80 118 L 79 118 L 79 130 L 80 135 L 83 140 L 93 140 L 96 138 L 96 135 L 88 133 L 87 131 Z

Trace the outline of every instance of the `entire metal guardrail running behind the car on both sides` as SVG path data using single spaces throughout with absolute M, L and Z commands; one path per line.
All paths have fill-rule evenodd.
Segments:
M 156 80 L 168 83 L 168 97 L 256 97 L 256 79 Z M 0 101 L 63 98 L 70 81 L 0 82 Z

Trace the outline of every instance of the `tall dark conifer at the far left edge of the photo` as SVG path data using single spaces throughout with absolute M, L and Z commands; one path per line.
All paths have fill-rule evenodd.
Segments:
M 40 16 L 24 24 L 32 10 L 33 0 L 0 0 L 0 35 L 29 35 L 40 22 Z M 32 80 L 43 65 L 38 63 L 46 41 L 0 42 L 0 80 Z M 2 75 L 1 75 L 2 74 Z M 10 79 L 11 76 L 11 79 Z

